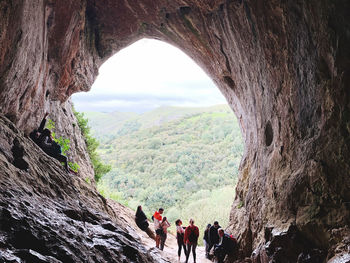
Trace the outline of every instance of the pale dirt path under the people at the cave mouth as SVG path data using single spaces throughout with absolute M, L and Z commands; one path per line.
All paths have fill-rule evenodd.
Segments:
M 113 210 L 116 212 L 118 217 L 124 222 L 124 225 L 130 232 L 130 234 L 134 237 L 137 236 L 140 239 L 140 242 L 142 242 L 148 250 L 161 255 L 162 258 L 167 260 L 168 262 L 174 262 L 174 263 L 179 262 L 177 257 L 177 242 L 176 242 L 176 237 L 174 235 L 168 233 L 168 237 L 165 242 L 164 251 L 160 251 L 159 249 L 155 248 L 155 245 L 156 245 L 155 241 L 151 239 L 144 231 L 142 231 L 136 226 L 134 221 L 135 212 L 133 210 L 123 206 L 122 204 L 116 203 L 113 200 L 108 200 L 108 204 L 113 208 Z M 152 231 L 154 231 L 152 223 L 150 223 L 150 228 L 152 229 Z M 196 255 L 197 255 L 197 263 L 212 262 L 205 258 L 204 247 L 197 247 Z M 181 252 L 180 262 L 181 263 L 185 262 L 185 254 L 183 253 L 183 251 Z M 188 262 L 193 263 L 192 253 L 190 255 Z

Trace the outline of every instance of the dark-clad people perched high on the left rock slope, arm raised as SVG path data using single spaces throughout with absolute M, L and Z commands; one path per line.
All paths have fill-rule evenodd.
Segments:
M 64 163 L 64 167 L 68 172 L 74 173 L 68 166 L 68 159 L 62 154 L 61 146 L 54 141 L 51 131 L 45 129 L 46 118 L 49 114 L 45 113 L 38 129 L 33 130 L 29 137 L 49 156 Z

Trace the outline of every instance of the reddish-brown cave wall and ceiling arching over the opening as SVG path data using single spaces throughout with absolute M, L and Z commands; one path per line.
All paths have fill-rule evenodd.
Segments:
M 240 121 L 239 257 L 350 258 L 349 1 L 13 0 L 0 12 L 0 111 L 24 132 L 44 111 L 64 119 L 61 103 L 117 51 L 168 42 Z

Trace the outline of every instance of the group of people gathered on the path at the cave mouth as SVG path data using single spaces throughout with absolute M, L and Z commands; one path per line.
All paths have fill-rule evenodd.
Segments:
M 154 222 L 156 247 L 160 250 L 164 249 L 165 241 L 167 239 L 168 228 L 171 224 L 166 217 L 163 217 L 164 209 L 159 208 L 154 212 L 152 219 Z M 142 207 L 138 206 L 135 217 L 136 224 L 141 230 L 145 231 L 150 237 L 149 223 Z M 193 261 L 196 262 L 196 247 L 199 238 L 199 228 L 194 224 L 194 220 L 189 220 L 187 227 L 182 226 L 182 221 L 177 219 L 176 225 L 176 239 L 178 244 L 178 260 L 180 261 L 181 251 L 184 251 L 186 256 L 186 263 L 190 257 L 191 251 Z M 208 224 L 204 231 L 203 241 L 205 244 L 206 257 L 209 259 L 210 255 L 214 255 L 218 263 L 224 262 L 227 254 L 233 251 L 235 246 L 235 238 L 225 233 L 224 229 L 220 227 L 217 221 L 213 226 Z

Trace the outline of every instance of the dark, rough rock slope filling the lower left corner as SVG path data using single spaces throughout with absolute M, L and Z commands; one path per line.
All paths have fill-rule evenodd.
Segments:
M 29 171 L 13 165 L 13 141 Z M 96 189 L 0 116 L 0 262 L 168 262 L 123 227 Z

